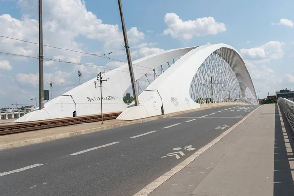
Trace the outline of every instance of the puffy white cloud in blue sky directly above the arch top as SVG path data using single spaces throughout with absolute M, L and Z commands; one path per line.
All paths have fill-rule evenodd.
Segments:
M 216 22 L 213 17 L 197 18 L 183 21 L 175 13 L 167 13 L 164 23 L 168 26 L 163 35 L 170 34 L 172 38 L 189 40 L 194 36 L 215 35 L 226 31 L 224 23 Z

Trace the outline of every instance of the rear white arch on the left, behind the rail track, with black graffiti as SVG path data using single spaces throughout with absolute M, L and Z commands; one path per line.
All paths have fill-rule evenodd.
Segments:
M 195 48 L 171 49 L 133 61 L 135 79 L 139 79 L 144 74 L 172 59 L 184 56 Z M 105 73 L 103 78 L 109 78 L 107 82 L 103 82 L 102 87 L 103 112 L 123 111 L 127 107 L 127 104 L 123 102 L 123 94 L 131 85 L 128 64 L 123 64 Z M 73 117 L 73 112 L 76 112 L 76 116 L 100 114 L 100 89 L 95 88 L 94 81 L 96 81 L 96 78 L 50 100 L 44 104 L 42 110 L 37 108 L 14 122 Z

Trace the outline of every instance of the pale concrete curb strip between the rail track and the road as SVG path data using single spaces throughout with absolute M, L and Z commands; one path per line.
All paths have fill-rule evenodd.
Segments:
M 73 131 L 69 133 L 63 133 L 63 134 L 58 134 L 58 135 L 52 135 L 52 136 L 47 136 L 47 137 L 41 137 L 41 138 L 35 138 L 35 139 L 30 139 L 30 140 L 25 140 L 25 141 L 18 141 L 18 142 L 12 142 L 4 145 L 0 145 L 0 150 L 4 149 L 10 149 L 14 147 L 22 147 L 26 145 L 31 145 L 31 144 L 39 144 L 39 143 L 44 143 L 44 142 L 50 142 L 53 140 L 58 140 L 62 138 L 68 138 L 68 137 L 73 137 L 73 136 L 78 136 L 78 135 L 83 135 L 83 134 L 88 134 L 88 133 L 94 133 L 94 132 L 99 132 L 99 131 L 104 131 L 108 129 L 114 129 L 114 128 L 119 128 L 123 126 L 128 126 L 132 124 L 138 124 L 138 123 L 145 123 L 148 121 L 154 121 L 158 119 L 163 119 L 175 115 L 180 115 L 180 114 L 185 114 L 185 113 L 191 113 L 191 112 L 196 112 L 196 111 L 201 111 L 201 110 L 206 110 L 206 109 L 211 109 L 211 108 L 216 108 L 216 107 L 222 107 L 222 106 L 229 106 L 229 105 L 247 105 L 247 104 L 228 104 L 228 105 L 217 105 L 217 106 L 210 106 L 210 107 L 203 107 L 203 108 L 197 108 L 193 110 L 186 110 L 182 112 L 176 112 L 176 113 L 171 113 L 171 114 L 166 114 L 166 115 L 160 115 L 160 116 L 155 116 L 155 117 L 149 117 L 146 119 L 138 119 L 126 123 L 118 123 L 118 124 L 113 124 L 113 125 L 107 125 L 103 127 L 98 127 L 98 128 L 91 128 L 91 129 L 85 129 L 85 130 L 80 130 L 80 131 Z

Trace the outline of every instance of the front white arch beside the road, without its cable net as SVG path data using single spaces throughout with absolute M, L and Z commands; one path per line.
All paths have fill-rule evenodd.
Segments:
M 239 58 L 237 59 L 236 56 L 233 58 L 225 52 L 221 54 L 219 49 L 231 49 Z M 200 108 L 200 104 L 190 97 L 190 84 L 202 63 L 216 51 L 236 73 L 240 88 L 243 89 L 242 94 L 245 94 L 246 88 L 250 89 L 253 98 L 246 102 L 258 104 L 251 76 L 238 51 L 227 44 L 214 44 L 197 47 L 182 56 L 139 95 L 139 106 L 128 106 L 117 119 L 133 120 L 161 115 L 161 107 L 164 114 Z M 241 74 L 240 72 L 237 74 L 238 69 L 242 70 Z

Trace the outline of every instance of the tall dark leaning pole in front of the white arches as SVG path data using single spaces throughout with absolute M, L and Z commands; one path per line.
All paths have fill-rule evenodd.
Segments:
M 124 25 L 123 8 L 122 8 L 121 0 L 118 0 L 118 3 L 119 3 L 121 20 L 122 20 L 123 37 L 124 37 L 126 56 L 127 56 L 127 61 L 128 61 L 128 65 L 129 65 L 130 75 L 131 75 L 131 83 L 132 83 L 132 89 L 133 89 L 133 94 L 134 94 L 134 101 L 135 101 L 135 106 L 138 106 L 139 100 L 138 100 L 138 94 L 137 94 L 137 89 L 136 89 L 136 84 L 135 84 L 135 76 L 134 76 L 134 70 L 133 70 L 132 59 L 131 59 L 131 54 L 130 54 L 130 47 L 128 45 L 128 40 L 127 40 L 127 35 L 126 35 L 126 30 L 125 30 L 125 25 Z

